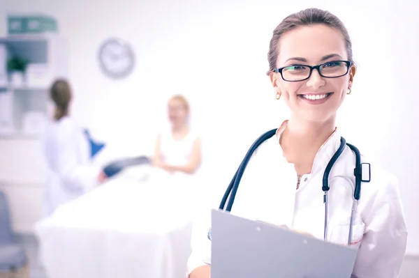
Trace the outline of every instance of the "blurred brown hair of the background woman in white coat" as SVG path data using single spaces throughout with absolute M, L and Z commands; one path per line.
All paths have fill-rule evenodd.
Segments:
M 68 115 L 71 101 L 71 87 L 64 79 L 57 79 L 50 88 L 50 97 L 55 104 L 54 120 L 59 121 Z

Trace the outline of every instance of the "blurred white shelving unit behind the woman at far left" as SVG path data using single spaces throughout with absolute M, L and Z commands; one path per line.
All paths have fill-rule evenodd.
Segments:
M 0 37 L 0 47 L 6 52 L 2 72 L 7 72 L 10 57 L 29 61 L 24 76 L 13 74 L 4 79 L 2 75 L 0 140 L 37 140 L 38 132 L 29 132 L 36 132 L 47 117 L 50 85 L 55 78 L 68 76 L 67 42 L 58 33 L 25 33 Z

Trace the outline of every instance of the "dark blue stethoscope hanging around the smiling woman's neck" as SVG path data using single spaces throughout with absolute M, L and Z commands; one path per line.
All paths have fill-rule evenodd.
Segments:
M 233 207 L 235 195 L 240 185 L 240 180 L 242 179 L 242 176 L 244 173 L 244 169 L 246 169 L 247 163 L 249 162 L 251 156 L 253 155 L 253 152 L 256 150 L 256 148 L 258 148 L 258 146 L 260 146 L 260 144 L 262 144 L 267 139 L 270 139 L 271 137 L 273 137 L 276 133 L 277 133 L 276 128 L 274 130 L 265 132 L 249 148 L 249 150 L 247 151 L 247 154 L 244 156 L 242 163 L 240 163 L 239 168 L 235 172 L 233 179 L 228 185 L 226 193 L 224 193 L 223 199 L 221 200 L 221 203 L 219 206 L 219 210 L 224 210 L 227 212 L 231 211 L 231 208 Z M 337 161 L 341 153 L 343 153 L 346 146 L 351 148 L 353 153 L 355 153 L 355 169 L 353 170 L 353 175 L 355 176 L 355 189 L 353 190 L 353 203 L 352 203 L 352 208 L 351 208 L 351 220 L 350 220 L 349 235 L 348 235 L 348 245 L 351 245 L 353 217 L 355 216 L 355 211 L 358 206 L 358 201 L 360 199 L 361 182 L 369 183 L 369 181 L 371 181 L 371 169 L 370 169 L 369 163 L 361 163 L 360 151 L 355 146 L 346 143 L 346 140 L 344 139 L 344 137 L 341 137 L 340 146 L 337 149 L 335 155 L 333 155 L 332 158 L 330 159 L 328 165 L 326 166 L 325 172 L 323 173 L 323 186 L 321 187 L 321 190 L 324 192 L 323 203 L 325 203 L 325 224 L 324 224 L 323 236 L 324 236 L 324 240 L 327 240 L 328 238 L 328 203 L 329 203 L 328 191 L 330 190 L 329 174 L 330 174 L 330 171 L 332 170 L 333 165 L 335 164 L 335 162 Z M 362 179 L 362 166 L 364 165 L 368 168 L 367 179 L 365 180 Z M 227 200 L 228 200 L 228 203 L 226 207 Z M 209 240 L 212 240 L 211 229 L 208 231 L 207 237 Z

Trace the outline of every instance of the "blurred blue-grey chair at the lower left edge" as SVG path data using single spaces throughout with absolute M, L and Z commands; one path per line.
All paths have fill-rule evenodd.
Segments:
M 0 191 L 0 271 L 19 270 L 26 263 L 23 246 L 14 240 L 6 194 Z

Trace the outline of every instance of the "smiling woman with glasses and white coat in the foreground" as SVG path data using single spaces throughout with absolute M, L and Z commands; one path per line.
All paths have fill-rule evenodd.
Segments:
M 336 113 L 355 77 L 351 39 L 335 15 L 302 10 L 274 30 L 268 60 L 276 98 L 286 102 L 291 116 L 254 153 L 231 213 L 323 240 L 322 178 L 340 145 Z M 370 161 L 362 157 L 362 162 Z M 348 241 L 353 201 L 348 183 L 354 182 L 354 164 L 355 155 L 346 146 L 330 173 L 327 240 L 341 245 Z M 371 164 L 371 181 L 363 183 L 360 195 L 351 241 L 358 248 L 353 277 L 396 278 L 407 237 L 397 178 Z M 208 278 L 207 230 L 193 238 L 189 277 Z

